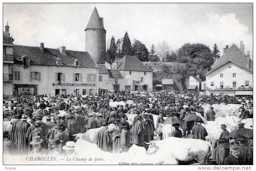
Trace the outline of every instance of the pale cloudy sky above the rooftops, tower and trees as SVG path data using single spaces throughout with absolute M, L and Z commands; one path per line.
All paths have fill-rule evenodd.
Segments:
M 106 41 L 119 39 L 128 32 L 130 40 L 151 44 L 166 41 L 171 50 L 185 43 L 203 43 L 220 53 L 244 41 L 245 53 L 253 56 L 252 3 L 142 3 L 142 4 L 3 4 L 3 30 L 6 22 L 14 44 L 46 48 L 66 46 L 85 51 L 85 28 L 93 8 L 104 18 Z

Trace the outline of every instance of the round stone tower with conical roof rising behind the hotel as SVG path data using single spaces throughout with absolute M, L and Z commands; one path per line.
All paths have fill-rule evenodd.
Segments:
M 106 30 L 96 7 L 85 29 L 85 51 L 90 53 L 96 63 L 99 63 L 102 53 L 106 54 Z

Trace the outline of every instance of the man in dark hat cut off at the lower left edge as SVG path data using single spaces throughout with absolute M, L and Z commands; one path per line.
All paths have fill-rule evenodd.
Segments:
M 4 155 L 15 155 L 16 144 L 14 141 L 8 139 L 10 136 L 8 131 L 3 131 L 3 154 Z

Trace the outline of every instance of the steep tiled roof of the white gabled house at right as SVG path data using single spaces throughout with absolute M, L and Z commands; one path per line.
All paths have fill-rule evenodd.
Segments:
M 209 74 L 229 61 L 242 68 L 248 69 L 249 71 L 253 71 L 253 61 L 247 57 L 247 55 L 245 55 L 235 44 L 232 44 L 232 46 L 213 64 L 212 69 L 206 74 Z

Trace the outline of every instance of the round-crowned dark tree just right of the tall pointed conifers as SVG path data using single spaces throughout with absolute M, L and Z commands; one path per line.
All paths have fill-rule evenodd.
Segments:
M 142 62 L 149 60 L 149 52 L 145 44 L 141 43 L 139 40 L 134 40 L 132 44 L 134 50 L 134 55 Z

